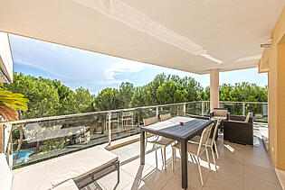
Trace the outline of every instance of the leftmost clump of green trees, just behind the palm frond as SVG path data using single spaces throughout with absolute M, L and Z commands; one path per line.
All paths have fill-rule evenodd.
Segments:
M 23 119 L 93 111 L 93 96 L 89 90 L 78 88 L 73 92 L 58 80 L 14 73 L 14 83 L 3 87 L 29 100 Z

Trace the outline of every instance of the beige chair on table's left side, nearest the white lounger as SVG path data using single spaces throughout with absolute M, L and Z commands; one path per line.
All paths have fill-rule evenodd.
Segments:
M 144 121 L 145 126 L 158 122 L 157 116 L 144 119 L 143 121 Z M 166 169 L 166 147 L 168 145 L 170 145 L 172 142 L 174 142 L 174 140 L 170 140 L 170 139 L 167 139 L 165 137 L 158 136 L 158 135 L 153 137 L 152 139 L 148 140 L 147 134 L 146 134 L 146 148 L 147 148 L 147 142 L 155 145 L 156 164 L 157 164 L 157 148 L 160 148 L 161 157 L 162 157 L 162 164 L 163 164 L 162 167 Z

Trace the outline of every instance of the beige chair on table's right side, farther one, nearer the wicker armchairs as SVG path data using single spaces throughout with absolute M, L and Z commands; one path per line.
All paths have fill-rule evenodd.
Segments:
M 204 146 L 206 146 L 207 148 L 210 148 L 211 151 L 212 151 L 212 157 L 213 157 L 213 160 L 214 160 L 214 168 L 215 170 L 217 171 L 217 166 L 216 166 L 216 161 L 215 161 L 215 156 L 214 156 L 214 150 L 215 150 L 215 154 L 217 156 L 217 158 L 219 158 L 219 152 L 218 152 L 218 149 L 217 149 L 217 145 L 216 145 L 216 142 L 215 142 L 215 136 L 216 136 L 216 133 L 218 131 L 218 126 L 220 125 L 220 120 L 217 120 L 215 123 L 214 123 L 214 132 L 213 132 L 213 136 L 211 138 L 209 138 L 208 140 L 208 143 Z M 193 139 L 189 140 L 191 143 L 196 143 L 198 144 L 201 140 L 201 137 L 200 136 L 195 136 Z

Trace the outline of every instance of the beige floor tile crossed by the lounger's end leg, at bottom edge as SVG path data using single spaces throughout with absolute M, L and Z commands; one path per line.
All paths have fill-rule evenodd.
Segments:
M 117 184 L 117 172 L 112 172 L 107 176 L 104 176 L 98 180 L 100 185 L 102 185 L 105 189 L 111 190 L 111 189 L 123 189 L 124 186 L 128 185 L 132 181 L 135 180 L 134 177 L 128 175 L 125 171 L 120 169 L 119 171 L 119 184 Z

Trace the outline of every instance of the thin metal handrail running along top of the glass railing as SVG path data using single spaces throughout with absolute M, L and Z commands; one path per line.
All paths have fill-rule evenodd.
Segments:
M 73 118 L 73 117 L 90 116 L 90 115 L 96 115 L 96 114 L 120 113 L 120 112 L 128 112 L 128 111 L 135 111 L 135 110 L 142 110 L 142 109 L 157 108 L 157 107 L 184 105 L 184 104 L 195 104 L 195 103 L 208 103 L 208 102 L 210 102 L 210 101 L 195 101 L 195 102 L 176 103 L 176 104 L 159 104 L 159 105 L 141 106 L 141 107 L 133 107 L 133 108 L 124 108 L 124 109 L 118 109 L 118 110 L 106 110 L 106 111 L 91 112 L 91 113 L 75 113 L 75 114 L 58 115 L 58 116 L 50 116 L 50 117 L 42 117 L 42 118 L 24 119 L 24 120 L 12 121 L 12 122 L 0 122 L 0 127 L 5 125 L 5 124 L 19 124 L 19 123 L 27 123 L 27 122 L 43 122 L 43 121 L 68 119 L 68 118 Z M 267 104 L 267 103 L 259 103 L 259 102 L 225 102 L 225 101 L 220 101 L 220 103 Z

